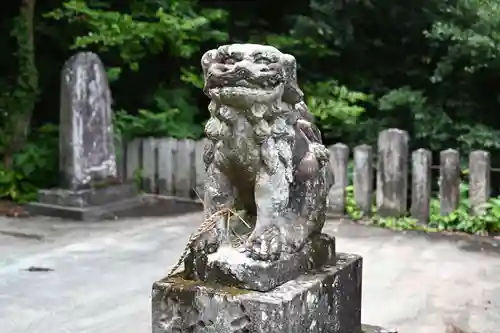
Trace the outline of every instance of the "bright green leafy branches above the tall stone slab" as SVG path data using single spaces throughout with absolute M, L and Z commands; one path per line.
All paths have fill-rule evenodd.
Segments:
M 46 16 L 83 25 L 88 31 L 76 36 L 72 48 L 98 46 L 99 52 L 117 49 L 121 59 L 132 70 L 138 61 L 157 54 L 167 46 L 176 56 L 189 58 L 206 40 L 227 39 L 210 24 L 223 20 L 226 12 L 219 9 L 196 11 L 194 1 L 131 1 L 126 11 L 114 11 L 110 3 L 69 0 L 63 8 Z

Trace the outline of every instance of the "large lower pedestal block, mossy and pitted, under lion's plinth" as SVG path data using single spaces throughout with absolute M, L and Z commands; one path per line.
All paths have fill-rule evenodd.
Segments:
M 153 333 L 361 333 L 362 258 L 337 259 L 269 292 L 181 278 L 153 285 Z

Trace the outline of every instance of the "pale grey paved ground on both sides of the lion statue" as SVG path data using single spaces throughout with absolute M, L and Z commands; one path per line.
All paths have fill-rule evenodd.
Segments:
M 200 220 L 0 219 L 0 332 L 150 333 L 151 283 Z M 500 251 L 341 222 L 326 229 L 339 251 L 364 257 L 363 322 L 400 333 L 444 333 L 445 321 L 500 332 Z M 25 270 L 35 266 L 53 271 Z

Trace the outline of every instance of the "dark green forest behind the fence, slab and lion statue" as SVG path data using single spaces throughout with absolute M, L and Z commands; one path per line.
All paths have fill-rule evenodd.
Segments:
M 2 5 L 0 24 L 3 199 L 57 184 L 60 72 L 79 50 L 106 65 L 125 140 L 200 138 L 201 55 L 255 42 L 296 56 L 328 144 L 397 127 L 435 161 L 484 149 L 500 164 L 496 0 L 22 0 Z

